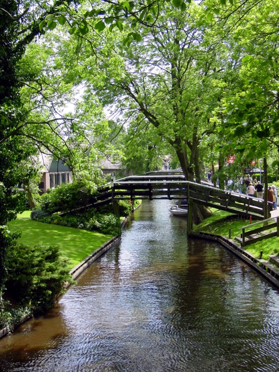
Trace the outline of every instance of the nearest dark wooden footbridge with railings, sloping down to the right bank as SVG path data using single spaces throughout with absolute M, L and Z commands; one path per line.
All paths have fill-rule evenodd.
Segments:
M 187 199 L 189 206 L 193 202 L 243 217 L 252 216 L 253 219 L 264 219 L 262 199 L 220 190 L 207 183 L 196 184 L 185 181 L 181 173 L 129 176 L 113 180 L 110 186 L 99 187 L 98 191 L 99 193 L 91 200 L 90 206 L 92 207 L 108 202 L 116 205 L 118 200 Z

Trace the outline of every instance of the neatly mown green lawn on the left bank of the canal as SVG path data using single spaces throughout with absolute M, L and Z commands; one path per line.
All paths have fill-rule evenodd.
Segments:
M 19 243 L 27 246 L 59 245 L 65 256 L 72 260 L 73 266 L 112 238 L 112 235 L 45 224 L 24 218 L 26 219 L 18 218 L 8 224 L 11 232 L 22 231 Z

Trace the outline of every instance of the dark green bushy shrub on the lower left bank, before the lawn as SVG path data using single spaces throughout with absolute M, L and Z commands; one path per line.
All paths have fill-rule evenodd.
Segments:
M 5 297 L 33 310 L 49 309 L 65 281 L 72 282 L 68 258 L 58 246 L 16 245 L 8 253 Z

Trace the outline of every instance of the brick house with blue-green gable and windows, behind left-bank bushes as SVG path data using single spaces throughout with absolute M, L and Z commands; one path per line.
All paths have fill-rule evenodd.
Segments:
M 59 159 L 56 160 L 52 155 L 40 154 L 43 176 L 39 184 L 42 193 L 49 188 L 65 183 L 72 183 L 72 173 L 68 165 Z

